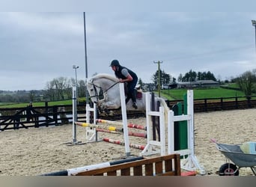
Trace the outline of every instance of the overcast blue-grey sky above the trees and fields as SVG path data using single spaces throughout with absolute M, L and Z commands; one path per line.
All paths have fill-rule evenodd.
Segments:
M 230 79 L 256 68 L 256 13 L 88 12 L 88 78 L 113 74 L 118 59 L 142 82 L 152 82 L 157 64 L 180 73 L 210 71 Z M 83 12 L 0 13 L 0 90 L 38 90 L 58 77 L 85 80 Z

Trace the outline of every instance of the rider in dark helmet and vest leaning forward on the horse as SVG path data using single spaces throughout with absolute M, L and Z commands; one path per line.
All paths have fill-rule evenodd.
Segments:
M 115 71 L 115 76 L 119 79 L 119 82 L 127 82 L 128 93 L 125 102 L 127 103 L 129 99 L 132 99 L 132 107 L 137 109 L 138 106 L 135 96 L 135 86 L 138 82 L 137 75 L 127 67 L 122 67 L 118 60 L 113 60 L 110 66 L 112 67 L 112 70 Z

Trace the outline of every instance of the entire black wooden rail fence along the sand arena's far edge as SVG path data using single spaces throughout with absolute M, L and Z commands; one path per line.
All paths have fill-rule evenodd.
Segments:
M 166 101 L 169 108 L 183 100 Z M 256 108 L 256 96 L 194 99 L 194 111 L 222 111 Z M 85 122 L 85 104 L 77 105 L 77 121 Z M 101 116 L 105 120 L 121 120 L 121 109 L 115 116 Z M 128 118 L 145 117 L 141 111 L 127 111 Z M 0 131 L 7 129 L 28 129 L 29 127 L 58 126 L 73 123 L 72 105 L 55 105 L 33 108 L 0 108 Z

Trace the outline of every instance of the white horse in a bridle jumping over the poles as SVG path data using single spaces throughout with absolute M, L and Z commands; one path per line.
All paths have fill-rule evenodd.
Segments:
M 91 101 L 97 103 L 97 107 L 100 111 L 111 111 L 112 109 L 121 108 L 121 95 L 119 88 L 119 80 L 115 76 L 100 73 L 89 79 L 87 83 L 88 93 L 91 97 Z M 132 107 L 132 99 L 127 102 L 127 111 L 146 111 L 146 99 L 145 93 L 141 93 L 141 99 L 136 99 L 138 108 Z M 165 117 L 168 113 L 168 105 L 161 97 L 155 97 L 155 108 L 157 102 L 160 102 L 160 106 L 165 108 Z

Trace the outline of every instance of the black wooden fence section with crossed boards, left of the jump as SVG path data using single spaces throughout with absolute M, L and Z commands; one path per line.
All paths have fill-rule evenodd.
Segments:
M 58 105 L 32 108 L 0 108 L 0 131 L 29 127 L 58 126 L 72 123 L 73 106 Z M 77 109 L 77 120 L 85 121 L 85 106 Z

